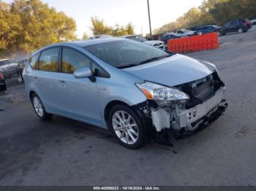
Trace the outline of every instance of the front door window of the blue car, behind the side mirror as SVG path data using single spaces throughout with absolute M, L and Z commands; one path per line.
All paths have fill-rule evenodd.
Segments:
M 62 72 L 73 74 L 77 69 L 83 67 L 91 68 L 91 60 L 78 51 L 64 47 L 61 67 Z

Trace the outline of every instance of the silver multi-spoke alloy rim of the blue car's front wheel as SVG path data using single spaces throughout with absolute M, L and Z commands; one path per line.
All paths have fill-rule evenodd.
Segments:
M 112 117 L 112 125 L 118 139 L 125 144 L 135 144 L 138 141 L 138 125 L 127 112 L 115 112 Z

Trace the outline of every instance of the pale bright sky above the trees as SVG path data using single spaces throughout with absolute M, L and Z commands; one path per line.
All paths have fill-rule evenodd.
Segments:
M 4 0 L 11 2 L 12 0 Z M 73 17 L 77 23 L 77 35 L 91 35 L 91 16 L 105 20 L 114 26 L 131 22 L 138 34 L 149 32 L 148 9 L 146 0 L 42 0 L 57 11 L 63 11 Z M 152 28 L 176 20 L 192 7 L 198 7 L 203 0 L 149 0 L 151 5 Z

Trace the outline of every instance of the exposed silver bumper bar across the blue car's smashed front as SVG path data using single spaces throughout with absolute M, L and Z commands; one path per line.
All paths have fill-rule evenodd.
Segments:
M 163 129 L 194 131 L 202 124 L 216 120 L 225 111 L 227 102 L 224 100 L 224 95 L 225 87 L 221 87 L 203 104 L 191 109 L 181 109 L 178 106 L 169 110 L 151 109 L 152 122 L 158 132 Z

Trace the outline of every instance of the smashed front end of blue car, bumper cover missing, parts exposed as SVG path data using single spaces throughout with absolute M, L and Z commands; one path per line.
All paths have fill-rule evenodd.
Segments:
M 168 129 L 177 133 L 195 132 L 217 120 L 227 108 L 225 84 L 219 79 L 217 71 L 203 79 L 174 88 L 189 95 L 189 99 L 182 94 L 177 96 L 179 101 L 149 99 L 147 106 L 143 107 L 144 114 L 151 118 L 157 132 Z M 143 90 L 143 93 L 147 92 Z

